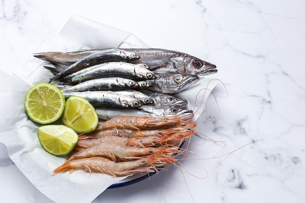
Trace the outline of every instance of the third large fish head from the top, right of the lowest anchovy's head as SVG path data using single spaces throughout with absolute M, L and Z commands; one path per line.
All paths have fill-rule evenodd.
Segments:
M 141 92 L 152 98 L 155 107 L 175 107 L 178 109 L 182 109 L 188 105 L 188 101 L 186 99 L 176 97 L 172 94 L 154 92 L 145 89 L 141 90 Z

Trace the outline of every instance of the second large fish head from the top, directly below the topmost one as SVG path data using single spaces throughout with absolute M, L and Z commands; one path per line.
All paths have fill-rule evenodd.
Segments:
M 163 74 L 166 84 L 163 86 L 165 93 L 184 91 L 199 81 L 198 75 Z

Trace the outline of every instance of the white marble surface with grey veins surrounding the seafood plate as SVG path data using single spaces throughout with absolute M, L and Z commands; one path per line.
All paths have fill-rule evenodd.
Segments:
M 12 74 L 76 14 L 151 47 L 207 60 L 218 68 L 209 78 L 228 92 L 218 97 L 219 112 L 200 125 L 210 139 L 192 139 L 194 156 L 182 162 L 182 173 L 171 167 L 152 180 L 108 189 L 93 202 L 304 203 L 304 6 L 301 0 L 4 0 L 0 70 Z M 0 182 L 0 202 L 53 203 L 2 143 Z

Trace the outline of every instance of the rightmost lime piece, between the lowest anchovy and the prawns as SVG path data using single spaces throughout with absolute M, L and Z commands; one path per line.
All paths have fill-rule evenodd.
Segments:
M 66 101 L 62 122 L 77 133 L 88 133 L 95 130 L 98 116 L 95 108 L 87 99 L 71 96 Z

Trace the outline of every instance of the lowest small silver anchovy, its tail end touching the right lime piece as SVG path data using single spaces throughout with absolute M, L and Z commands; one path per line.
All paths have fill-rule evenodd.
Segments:
M 95 108 L 139 108 L 143 104 L 130 96 L 112 91 L 63 92 L 66 99 L 70 96 L 80 96 L 87 99 Z

